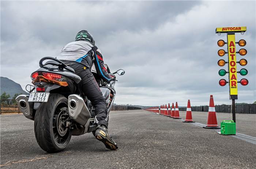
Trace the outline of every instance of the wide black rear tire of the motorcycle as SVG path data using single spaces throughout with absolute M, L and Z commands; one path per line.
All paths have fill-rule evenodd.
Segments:
M 63 113 L 60 109 L 67 105 L 68 99 L 63 95 L 50 94 L 48 102 L 41 103 L 35 113 L 35 138 L 38 145 L 48 153 L 64 150 L 71 139 L 71 131 L 60 123 Z

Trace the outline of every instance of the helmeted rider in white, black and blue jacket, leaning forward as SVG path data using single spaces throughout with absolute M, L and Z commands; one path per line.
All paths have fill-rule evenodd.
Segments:
M 82 91 L 95 107 L 95 121 L 97 128 L 95 137 L 103 142 L 106 148 L 116 150 L 117 144 L 108 134 L 108 113 L 106 101 L 99 89 L 91 68 L 94 64 L 97 74 L 105 81 L 110 82 L 116 77 L 109 74 L 103 65 L 101 51 L 95 46 L 93 36 L 85 30 L 78 32 L 75 42 L 70 42 L 57 55 L 57 59 L 63 61 L 75 70 L 75 73 L 82 79 Z

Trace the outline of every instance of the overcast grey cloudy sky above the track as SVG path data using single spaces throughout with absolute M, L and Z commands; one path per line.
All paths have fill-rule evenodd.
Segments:
M 1 76 L 31 83 L 44 56 L 56 56 L 80 30 L 93 34 L 116 83 L 117 104 L 231 104 L 218 82 L 216 27 L 246 26 L 247 86 L 236 102 L 256 101 L 255 1 L 1 1 Z M 237 46 L 237 50 L 241 47 Z M 223 47 L 226 50 L 226 46 Z M 237 66 L 238 71 L 242 67 Z M 225 66 L 227 70 L 227 66 Z M 224 76 L 228 80 L 228 76 Z M 238 80 L 241 79 L 238 74 Z

